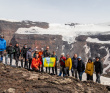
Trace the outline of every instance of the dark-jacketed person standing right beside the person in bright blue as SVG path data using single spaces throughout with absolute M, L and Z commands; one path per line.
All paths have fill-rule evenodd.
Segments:
M 14 47 L 12 46 L 12 43 L 9 44 L 9 46 L 6 47 L 6 52 L 7 52 L 7 55 L 6 55 L 6 64 L 7 64 L 7 61 L 8 61 L 8 57 L 10 58 L 10 66 L 12 66 L 12 59 L 13 59 L 13 54 L 15 52 L 14 50 Z

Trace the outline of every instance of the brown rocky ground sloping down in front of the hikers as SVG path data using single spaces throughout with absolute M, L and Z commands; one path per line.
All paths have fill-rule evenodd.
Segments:
M 110 93 L 110 87 L 0 63 L 0 93 Z

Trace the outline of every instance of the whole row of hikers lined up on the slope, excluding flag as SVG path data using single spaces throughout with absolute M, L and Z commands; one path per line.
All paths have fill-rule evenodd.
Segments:
M 32 55 L 33 54 L 33 55 Z M 0 36 L 0 62 L 3 61 L 3 55 L 5 55 L 5 64 L 8 62 L 8 58 L 10 58 L 10 66 L 12 66 L 13 58 L 16 61 L 16 67 L 18 67 L 18 61 L 21 57 L 21 67 L 35 70 L 35 71 L 44 71 L 43 67 L 43 58 L 44 57 L 54 57 L 55 58 L 55 67 L 46 67 L 46 72 L 58 75 L 58 63 L 60 64 L 60 72 L 59 76 L 70 76 L 70 71 L 72 76 L 82 80 L 82 75 L 85 72 L 87 74 L 87 80 L 93 80 L 93 72 L 96 72 L 96 82 L 100 83 L 100 75 L 103 73 L 103 65 L 100 61 L 100 57 L 96 57 L 95 62 L 92 61 L 91 58 L 88 59 L 88 62 L 85 66 L 82 58 L 74 54 L 72 58 L 70 58 L 69 54 L 66 55 L 62 53 L 60 59 L 56 55 L 56 52 L 53 51 L 51 54 L 49 52 L 49 46 L 44 50 L 41 48 L 40 51 L 35 49 L 31 49 L 27 47 L 27 44 L 20 49 L 19 44 L 16 43 L 15 46 L 12 46 L 10 43 L 9 46 L 6 47 L 6 40 L 4 40 L 4 36 Z M 24 64 L 23 64 L 24 62 Z M 52 69 L 52 70 L 51 70 Z

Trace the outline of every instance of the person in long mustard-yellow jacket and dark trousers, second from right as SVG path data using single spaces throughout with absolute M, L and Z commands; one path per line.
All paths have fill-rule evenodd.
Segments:
M 93 72 L 94 72 L 94 63 L 92 62 L 92 59 L 89 58 L 85 70 L 85 73 L 87 74 L 87 80 L 93 80 Z

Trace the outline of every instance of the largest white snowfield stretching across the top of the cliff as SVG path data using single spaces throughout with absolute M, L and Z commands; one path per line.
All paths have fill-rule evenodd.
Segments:
M 32 29 L 37 32 L 31 32 Z M 28 31 L 28 32 L 26 32 Z M 61 35 L 63 41 L 68 44 L 74 43 L 75 38 L 79 35 L 96 35 L 96 34 L 110 34 L 110 26 L 101 26 L 94 24 L 80 24 L 75 27 L 64 24 L 49 24 L 49 28 L 44 29 L 40 27 L 19 28 L 16 34 L 50 34 Z M 88 41 L 90 38 L 87 39 Z

